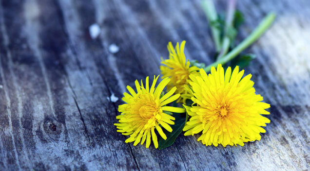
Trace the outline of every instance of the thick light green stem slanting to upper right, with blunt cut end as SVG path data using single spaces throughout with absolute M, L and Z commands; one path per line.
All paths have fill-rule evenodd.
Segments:
M 211 70 L 212 67 L 217 67 L 218 64 L 226 64 L 228 61 L 232 60 L 236 57 L 241 51 L 248 48 L 254 41 L 256 41 L 266 30 L 271 26 L 273 20 L 275 18 L 274 13 L 270 13 L 267 17 L 265 17 L 256 29 L 250 34 L 246 39 L 244 39 L 237 47 L 235 47 L 232 51 L 230 51 L 227 55 L 223 56 L 213 64 L 209 65 L 205 68 L 207 72 Z

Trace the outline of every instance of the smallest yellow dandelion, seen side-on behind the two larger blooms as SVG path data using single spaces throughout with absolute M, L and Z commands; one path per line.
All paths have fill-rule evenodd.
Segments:
M 197 74 L 199 68 L 190 67 L 190 62 L 186 61 L 184 54 L 185 42 L 182 41 L 181 46 L 179 47 L 179 43 L 176 43 L 175 49 L 171 42 L 168 43 L 167 49 L 169 51 L 169 59 L 163 60 L 162 64 L 164 66 L 160 66 L 162 78 L 170 78 L 171 81 L 167 85 L 167 89 L 171 90 L 174 86 L 176 87 L 176 93 L 180 93 L 181 97 L 183 97 L 183 103 L 185 103 L 187 96 L 187 91 L 184 90 L 184 85 L 189 81 L 190 74 Z M 181 102 L 181 99 L 178 100 Z

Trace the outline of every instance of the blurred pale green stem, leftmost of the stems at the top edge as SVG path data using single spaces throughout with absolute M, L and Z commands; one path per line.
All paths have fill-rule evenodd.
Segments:
M 218 28 L 216 28 L 213 24 L 213 22 L 215 22 L 217 20 L 217 13 L 216 13 L 216 9 L 215 9 L 213 0 L 203 0 L 202 1 L 202 8 L 203 8 L 204 12 L 206 13 L 206 16 L 209 20 L 213 40 L 215 43 L 215 48 L 216 48 L 216 51 L 218 52 L 221 50 L 220 30 Z

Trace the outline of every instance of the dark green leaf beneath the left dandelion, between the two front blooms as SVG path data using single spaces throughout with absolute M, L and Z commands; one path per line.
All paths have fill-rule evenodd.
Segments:
M 170 125 L 172 128 L 172 132 L 168 132 L 167 130 L 163 129 L 163 132 L 166 134 L 167 139 L 163 139 L 162 137 L 159 137 L 158 141 L 158 149 L 162 150 L 164 148 L 167 148 L 171 146 L 175 138 L 179 136 L 185 126 L 185 123 L 188 119 L 187 113 L 173 113 L 172 115 L 175 118 L 174 125 Z

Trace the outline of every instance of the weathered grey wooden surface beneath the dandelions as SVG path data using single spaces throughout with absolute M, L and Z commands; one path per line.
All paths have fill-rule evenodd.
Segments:
M 225 0 L 216 6 L 224 10 Z M 181 135 L 159 151 L 124 143 L 113 126 L 122 102 L 109 97 L 159 74 L 169 41 L 187 40 L 187 58 L 212 62 L 199 0 L 0 0 L 0 170 L 310 170 L 310 1 L 239 0 L 237 8 L 245 15 L 238 40 L 277 14 L 247 50 L 257 58 L 246 73 L 271 104 L 266 134 L 226 148 Z

